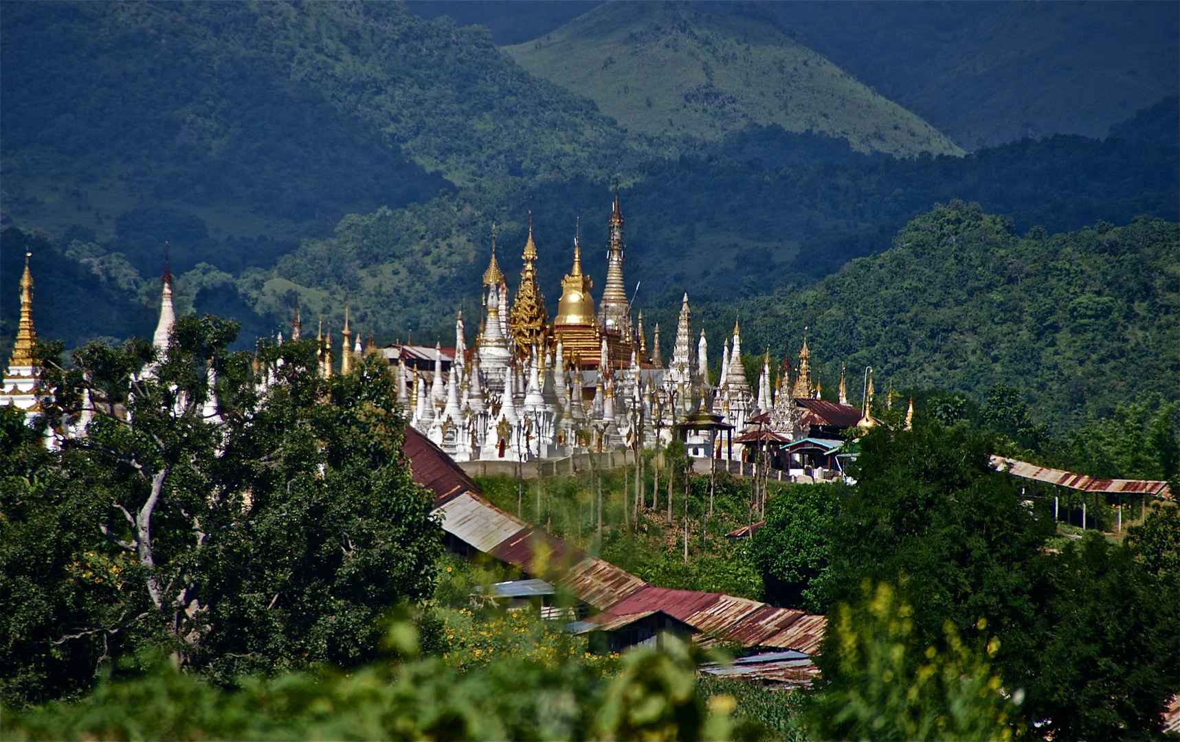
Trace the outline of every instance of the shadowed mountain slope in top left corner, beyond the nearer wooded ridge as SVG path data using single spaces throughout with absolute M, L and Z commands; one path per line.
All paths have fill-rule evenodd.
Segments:
M 297 238 L 629 162 L 592 103 L 399 4 L 8 2 L 4 25 L 4 211 L 51 232 L 166 204 L 214 238 Z

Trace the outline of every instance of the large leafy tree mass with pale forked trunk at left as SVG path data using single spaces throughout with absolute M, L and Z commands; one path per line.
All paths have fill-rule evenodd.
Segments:
M 91 344 L 68 369 L 51 348 L 52 452 L 5 412 L 6 703 L 79 692 L 152 648 L 222 679 L 356 665 L 384 611 L 432 592 L 439 531 L 389 375 L 328 382 L 313 343 L 227 352 L 236 331 L 182 319 L 163 357 Z

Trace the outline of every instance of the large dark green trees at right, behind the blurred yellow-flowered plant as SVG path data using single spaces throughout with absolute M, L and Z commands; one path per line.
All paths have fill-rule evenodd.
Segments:
M 853 605 L 866 578 L 897 584 L 919 646 L 942 641 L 948 622 L 985 618 L 1004 683 L 1024 689 L 1027 718 L 1055 738 L 1158 734 L 1180 689 L 1174 585 L 1096 533 L 1045 553 L 1044 498 L 991 470 L 988 451 L 961 426 L 865 435 L 831 530 L 830 599 Z M 840 672 L 837 629 L 818 658 L 825 676 Z

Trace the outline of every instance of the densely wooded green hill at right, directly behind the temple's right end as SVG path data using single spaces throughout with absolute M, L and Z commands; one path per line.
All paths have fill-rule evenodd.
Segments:
M 1119 403 L 1180 399 L 1180 224 L 1135 219 L 1012 234 L 977 204 L 939 205 L 893 248 L 805 290 L 694 308 L 709 339 L 740 313 L 742 349 L 798 353 L 804 330 L 827 394 L 840 366 L 884 394 L 943 387 L 982 401 L 1004 383 L 1055 433 Z M 856 396 L 859 398 L 859 382 Z

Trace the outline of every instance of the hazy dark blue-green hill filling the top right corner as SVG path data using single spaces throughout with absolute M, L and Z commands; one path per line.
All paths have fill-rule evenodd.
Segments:
M 1178 2 L 766 6 L 801 41 L 966 149 L 1102 137 L 1180 90 Z

